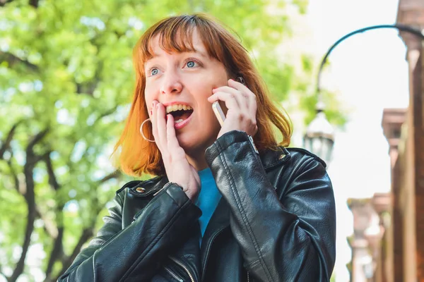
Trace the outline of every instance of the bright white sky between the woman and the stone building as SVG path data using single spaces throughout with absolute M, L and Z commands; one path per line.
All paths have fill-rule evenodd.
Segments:
M 320 58 L 337 39 L 370 25 L 396 22 L 398 0 L 310 0 L 307 18 Z M 337 206 L 336 281 L 347 282 L 353 233 L 349 197 L 389 192 L 390 164 L 382 133 L 384 108 L 408 106 L 406 48 L 396 30 L 373 30 L 342 42 L 329 57 L 322 87 L 335 90 L 352 109 L 344 132 L 336 134 L 329 175 Z

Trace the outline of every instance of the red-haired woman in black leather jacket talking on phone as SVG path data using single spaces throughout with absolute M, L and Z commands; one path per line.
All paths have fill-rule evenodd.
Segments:
M 117 191 L 59 281 L 329 281 L 336 218 L 325 164 L 283 147 L 288 118 L 240 43 L 206 16 L 175 16 L 144 33 L 134 66 L 115 151 L 125 173 L 156 177 Z

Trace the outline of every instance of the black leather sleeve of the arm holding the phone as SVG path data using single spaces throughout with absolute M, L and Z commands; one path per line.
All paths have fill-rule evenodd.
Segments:
M 258 281 L 329 281 L 336 249 L 331 181 L 310 155 L 290 161 L 271 185 L 246 133 L 232 131 L 206 150 L 245 267 Z M 278 187 L 277 187 L 278 188 Z M 278 189 L 277 189 L 278 190 Z

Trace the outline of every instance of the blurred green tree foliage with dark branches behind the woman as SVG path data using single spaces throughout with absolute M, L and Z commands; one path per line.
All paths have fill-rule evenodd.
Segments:
M 305 87 L 311 70 L 301 80 L 272 56 L 290 36 L 286 1 L 175 3 L 0 0 L 0 281 L 56 281 L 128 180 L 108 157 L 134 86 L 132 47 L 158 19 L 207 11 L 252 51 L 276 99 Z

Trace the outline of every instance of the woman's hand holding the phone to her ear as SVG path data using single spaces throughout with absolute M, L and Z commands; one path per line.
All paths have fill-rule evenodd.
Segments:
M 231 130 L 245 131 L 247 135 L 257 133 L 257 97 L 245 85 L 235 80 L 228 80 L 228 86 L 212 90 L 213 94 L 208 101 L 218 100 L 225 102 L 228 111 L 218 137 Z

